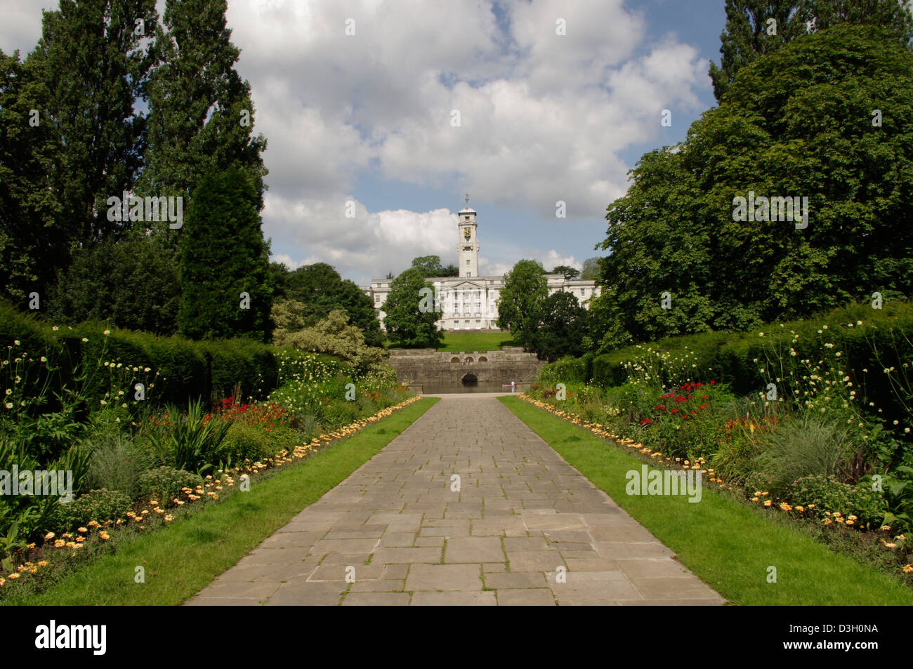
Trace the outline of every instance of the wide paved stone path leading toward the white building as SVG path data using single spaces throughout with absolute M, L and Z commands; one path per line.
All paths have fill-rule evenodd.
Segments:
M 503 404 L 475 394 L 445 395 L 188 603 L 723 600 Z

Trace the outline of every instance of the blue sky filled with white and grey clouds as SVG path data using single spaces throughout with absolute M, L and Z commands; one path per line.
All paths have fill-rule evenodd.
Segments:
M 0 0 L 0 47 L 25 56 L 56 7 Z M 599 255 L 626 172 L 715 104 L 725 14 L 723 0 L 228 0 L 227 20 L 268 139 L 273 259 L 363 285 L 415 256 L 456 263 L 467 192 L 483 275 Z

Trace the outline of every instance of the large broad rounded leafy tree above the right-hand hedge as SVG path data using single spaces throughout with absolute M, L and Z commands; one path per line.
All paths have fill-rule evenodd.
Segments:
M 910 99 L 913 54 L 869 26 L 797 38 L 742 68 L 687 141 L 645 154 L 609 206 L 591 306 L 600 350 L 913 292 Z M 808 197 L 808 227 L 733 221 L 750 192 Z

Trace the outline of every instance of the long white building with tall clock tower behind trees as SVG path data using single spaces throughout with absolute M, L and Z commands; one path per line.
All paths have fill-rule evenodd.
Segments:
M 439 329 L 498 329 L 498 296 L 504 287 L 504 277 L 478 276 L 478 236 L 476 211 L 466 209 L 457 214 L 456 254 L 459 257 L 459 277 L 433 277 L 427 279 L 435 287 L 436 299 L 441 301 Z M 547 274 L 545 279 L 549 295 L 559 290 L 570 292 L 583 308 L 589 300 L 599 295 L 595 281 L 568 280 L 562 274 Z M 393 279 L 372 279 L 371 287 L 362 287 L 365 295 L 373 299 L 377 317 L 383 327 L 383 303 L 390 293 Z

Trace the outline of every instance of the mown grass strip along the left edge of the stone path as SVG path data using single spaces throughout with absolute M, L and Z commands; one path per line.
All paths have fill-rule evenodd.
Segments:
M 341 483 L 437 401 L 425 398 L 410 404 L 299 465 L 255 481 L 250 492 L 139 537 L 39 595 L 4 603 L 150 606 L 186 601 Z M 144 583 L 134 581 L 138 566 L 145 570 Z

